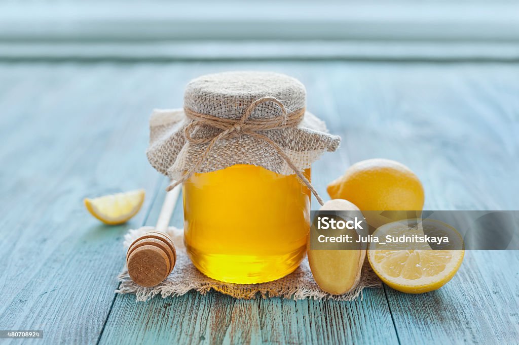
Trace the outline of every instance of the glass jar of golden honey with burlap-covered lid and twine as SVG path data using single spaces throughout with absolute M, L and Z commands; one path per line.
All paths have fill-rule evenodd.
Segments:
M 208 277 L 262 283 L 294 271 L 310 228 L 310 165 L 340 138 L 285 75 L 199 77 L 183 110 L 156 111 L 148 160 L 182 183 L 184 243 Z M 318 199 L 320 200 L 320 198 Z

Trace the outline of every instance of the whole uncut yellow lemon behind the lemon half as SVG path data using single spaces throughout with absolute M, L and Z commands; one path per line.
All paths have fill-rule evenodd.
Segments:
M 362 211 L 421 212 L 424 207 L 424 188 L 418 177 L 405 165 L 386 159 L 353 164 L 343 176 L 327 186 L 327 192 L 332 199 L 346 199 Z M 396 219 L 413 218 L 408 212 L 391 213 L 390 218 L 378 214 L 378 219 L 364 215 L 375 228 Z

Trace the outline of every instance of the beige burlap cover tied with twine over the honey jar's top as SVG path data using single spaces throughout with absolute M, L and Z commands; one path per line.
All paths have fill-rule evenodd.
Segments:
M 295 173 L 322 204 L 302 171 L 325 151 L 335 151 L 340 137 L 327 133 L 324 122 L 305 107 L 304 85 L 282 74 L 199 77 L 187 85 L 184 109 L 153 113 L 148 160 L 175 184 L 194 171 L 235 164 Z

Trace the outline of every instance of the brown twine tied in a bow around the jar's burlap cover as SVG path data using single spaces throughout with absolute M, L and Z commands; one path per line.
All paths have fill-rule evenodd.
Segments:
M 252 111 L 260 104 L 272 102 L 281 109 L 280 116 L 276 116 L 273 118 L 266 119 L 249 119 Z M 323 205 L 323 200 L 317 193 L 316 189 L 313 188 L 310 181 L 303 175 L 299 169 L 294 165 L 294 163 L 290 160 L 290 157 L 286 155 L 283 149 L 274 141 L 272 141 L 269 137 L 258 133 L 261 131 L 270 131 L 270 130 L 278 130 L 281 128 L 292 127 L 297 125 L 303 119 L 305 115 L 305 109 L 299 109 L 291 113 L 287 113 L 285 106 L 281 101 L 275 97 L 262 97 L 260 99 L 256 99 L 252 104 L 245 109 L 242 117 L 240 119 L 225 119 L 218 118 L 215 116 L 211 116 L 208 114 L 202 114 L 195 112 L 193 110 L 184 109 L 184 112 L 188 119 L 192 120 L 184 129 L 184 135 L 186 139 L 195 145 L 201 145 L 209 143 L 206 150 L 203 152 L 202 156 L 198 160 L 198 162 L 190 169 L 188 169 L 181 179 L 175 181 L 170 184 L 166 191 L 171 191 L 175 186 L 179 185 L 182 182 L 185 182 L 189 179 L 193 174 L 200 168 L 200 166 L 206 161 L 207 155 L 213 148 L 214 144 L 220 139 L 226 138 L 239 138 L 242 135 L 248 135 L 251 137 L 255 137 L 267 142 L 272 148 L 276 150 L 276 152 L 281 156 L 281 158 L 288 164 L 288 166 L 294 170 L 296 176 L 303 181 L 303 183 L 308 187 L 308 189 L 315 195 L 319 204 Z M 210 126 L 213 128 L 217 128 L 221 130 L 219 134 L 214 137 L 203 137 L 203 138 L 193 138 L 192 134 L 197 126 Z

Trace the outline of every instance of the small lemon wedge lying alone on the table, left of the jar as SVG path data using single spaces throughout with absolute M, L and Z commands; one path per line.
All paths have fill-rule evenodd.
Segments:
M 143 189 L 100 196 L 98 198 L 85 198 L 87 210 L 101 222 L 111 225 L 122 224 L 132 218 L 144 202 Z

